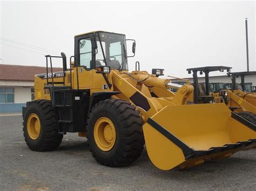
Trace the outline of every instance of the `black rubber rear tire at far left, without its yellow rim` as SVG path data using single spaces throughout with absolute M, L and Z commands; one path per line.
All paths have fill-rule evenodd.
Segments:
M 57 131 L 57 114 L 52 108 L 52 103 L 48 100 L 36 100 L 27 102 L 23 118 L 23 135 L 26 144 L 32 151 L 52 151 L 62 142 L 63 135 Z M 36 114 L 41 122 L 41 132 L 36 140 L 29 137 L 26 128 L 30 114 Z

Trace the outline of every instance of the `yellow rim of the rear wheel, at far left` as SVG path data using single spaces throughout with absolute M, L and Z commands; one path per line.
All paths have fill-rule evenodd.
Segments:
M 28 130 L 29 137 L 36 140 L 41 132 L 41 123 L 39 117 L 36 114 L 30 114 L 26 123 L 26 129 Z

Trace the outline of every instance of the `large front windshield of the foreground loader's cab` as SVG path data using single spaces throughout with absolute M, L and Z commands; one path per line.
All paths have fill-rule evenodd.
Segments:
M 98 32 L 96 43 L 96 67 L 110 66 L 111 69 L 128 70 L 125 35 Z

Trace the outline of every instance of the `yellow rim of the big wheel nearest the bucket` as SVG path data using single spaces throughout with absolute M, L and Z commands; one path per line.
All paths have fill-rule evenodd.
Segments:
M 116 142 L 116 129 L 112 121 L 107 117 L 100 117 L 95 123 L 93 136 L 100 150 L 111 150 Z

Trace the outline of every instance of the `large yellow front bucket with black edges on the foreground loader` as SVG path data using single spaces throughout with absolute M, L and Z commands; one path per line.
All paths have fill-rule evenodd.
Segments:
M 256 146 L 256 128 L 224 103 L 171 105 L 143 125 L 147 153 L 160 169 L 190 167 Z

